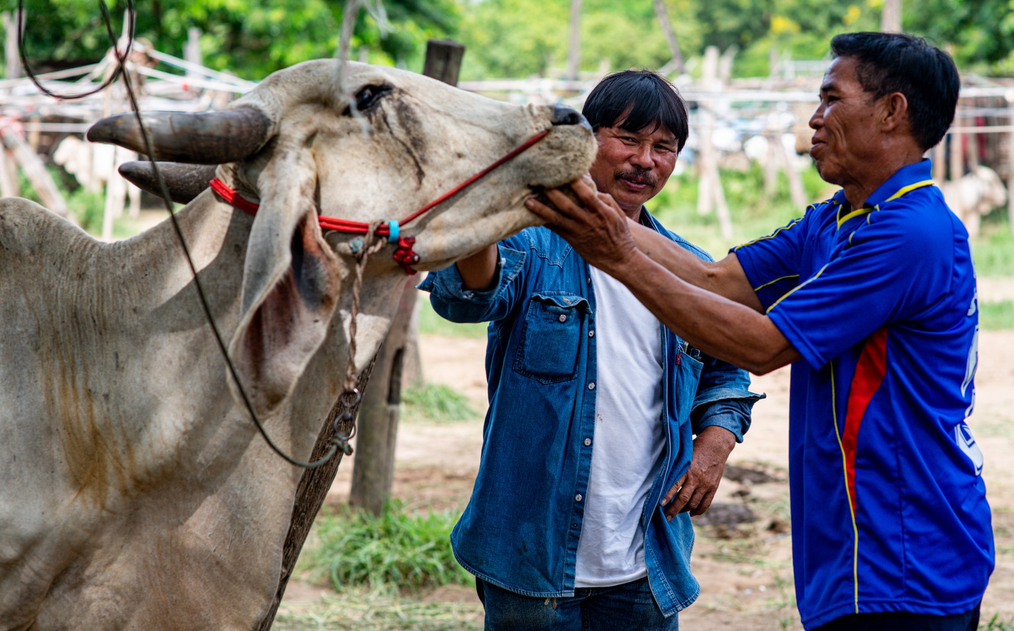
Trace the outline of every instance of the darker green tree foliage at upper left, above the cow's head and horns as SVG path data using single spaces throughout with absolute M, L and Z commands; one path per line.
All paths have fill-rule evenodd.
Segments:
M 107 0 L 119 34 L 126 2 Z M 344 2 L 334 0 L 150 0 L 137 3 L 137 36 L 158 50 L 180 55 L 187 31 L 203 31 L 204 63 L 247 79 L 308 59 L 332 57 L 338 48 Z M 14 0 L 0 7 L 12 10 Z M 386 0 L 390 31 L 360 11 L 351 51 L 367 47 L 369 61 L 421 67 L 425 42 L 456 28 L 456 0 Z M 25 45 L 42 67 L 93 62 L 108 49 L 94 0 L 25 0 Z M 382 36 L 384 35 L 384 36 Z

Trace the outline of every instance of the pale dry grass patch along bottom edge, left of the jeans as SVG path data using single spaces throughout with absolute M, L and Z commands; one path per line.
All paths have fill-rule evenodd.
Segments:
M 350 589 L 325 597 L 307 610 L 282 610 L 272 626 L 276 631 L 480 631 L 483 607 L 479 603 L 427 603 Z

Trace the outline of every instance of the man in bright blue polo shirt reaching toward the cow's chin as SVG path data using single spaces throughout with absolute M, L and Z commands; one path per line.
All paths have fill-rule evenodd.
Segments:
M 586 185 L 555 222 L 593 264 L 706 352 L 755 373 L 792 363 L 796 596 L 820 631 L 968 631 L 994 565 L 974 405 L 968 235 L 925 152 L 954 116 L 954 63 L 925 41 L 848 33 L 810 119 L 834 198 L 701 262 Z

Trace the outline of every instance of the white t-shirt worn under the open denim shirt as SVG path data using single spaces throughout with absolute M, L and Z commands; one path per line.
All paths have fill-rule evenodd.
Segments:
M 664 447 L 661 324 L 622 283 L 591 267 L 595 435 L 574 585 L 643 578 L 641 511 Z

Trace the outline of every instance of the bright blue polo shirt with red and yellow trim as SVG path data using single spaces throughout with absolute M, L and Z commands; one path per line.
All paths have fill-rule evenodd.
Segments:
M 968 234 L 929 160 L 852 209 L 844 191 L 734 248 L 792 366 L 796 599 L 812 629 L 857 613 L 964 613 L 993 570 L 974 405 Z

